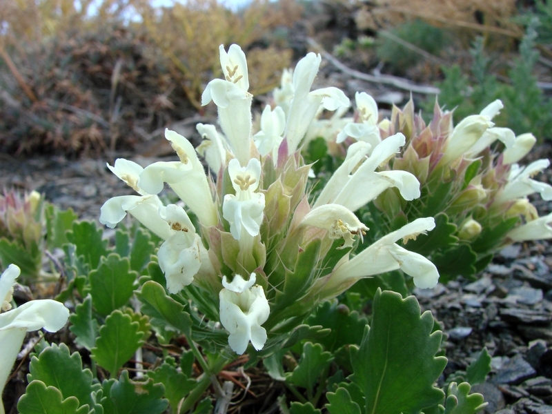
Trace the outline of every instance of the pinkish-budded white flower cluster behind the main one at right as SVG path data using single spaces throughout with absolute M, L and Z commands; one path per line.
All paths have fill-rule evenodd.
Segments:
M 395 230 L 393 223 L 399 217 L 399 222 L 411 222 L 439 215 L 435 234 L 444 235 L 442 239 L 435 240 L 431 250 L 422 244 L 409 246 L 424 251 L 445 277 L 475 275 L 507 244 L 552 237 L 552 215 L 538 217 L 527 198 L 538 193 L 545 200 L 552 199 L 552 186 L 532 178 L 549 161 L 540 159 L 525 167 L 517 164 L 536 139 L 530 133 L 516 137 L 509 128 L 493 124 L 502 109 L 500 100 L 456 126 L 452 112 L 444 112 L 437 103 L 426 125 L 415 115 L 412 101 L 403 110 L 393 108 L 391 119 L 383 120 L 378 119 L 372 97 L 357 93 L 355 101 L 355 117 L 342 119 L 342 128 L 326 128 L 324 139 L 349 151 L 362 145 L 379 148 L 402 134 L 402 150 L 378 165 L 377 174 L 388 179 L 402 173 L 421 184 L 410 204 L 404 202 L 408 197 L 399 185 L 386 189 L 374 202 L 377 209 L 362 212 L 366 224 L 377 222 L 389 231 Z M 450 268 L 448 264 L 455 261 L 464 266 Z

